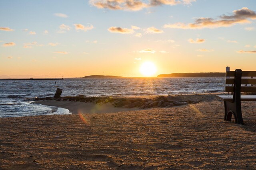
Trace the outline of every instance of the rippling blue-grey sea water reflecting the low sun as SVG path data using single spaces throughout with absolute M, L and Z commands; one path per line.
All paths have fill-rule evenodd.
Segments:
M 56 82 L 56 84 L 55 84 Z M 224 92 L 225 77 L 66 78 L 65 80 L 1 80 L 0 117 L 70 114 L 68 109 L 31 104 L 38 97 L 147 96 Z

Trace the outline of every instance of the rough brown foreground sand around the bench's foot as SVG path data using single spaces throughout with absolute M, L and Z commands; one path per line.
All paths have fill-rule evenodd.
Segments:
M 0 119 L 0 169 L 256 169 L 255 102 L 245 125 L 224 104 Z

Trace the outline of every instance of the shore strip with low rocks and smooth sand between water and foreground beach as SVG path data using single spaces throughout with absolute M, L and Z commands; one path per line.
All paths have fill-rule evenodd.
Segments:
M 218 93 L 219 94 L 219 93 Z M 216 93 L 182 94 L 161 96 L 86 97 L 65 96 L 60 98 L 37 98 L 32 104 L 56 106 L 68 109 L 72 114 L 116 113 L 157 107 L 177 107 L 205 101 L 218 100 Z

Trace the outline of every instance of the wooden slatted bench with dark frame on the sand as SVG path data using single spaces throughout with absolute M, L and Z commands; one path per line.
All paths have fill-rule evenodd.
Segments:
M 256 84 L 256 79 L 251 78 L 253 76 L 256 76 L 256 71 L 236 69 L 235 71 L 226 72 L 226 84 L 232 86 L 226 86 L 225 92 L 233 92 L 233 95 L 217 96 L 224 101 L 224 120 L 231 121 L 231 117 L 234 115 L 236 123 L 244 124 L 241 101 L 256 101 L 256 95 L 241 95 L 241 92 L 256 92 L 256 86 L 253 86 Z M 251 86 L 247 86 L 248 84 Z

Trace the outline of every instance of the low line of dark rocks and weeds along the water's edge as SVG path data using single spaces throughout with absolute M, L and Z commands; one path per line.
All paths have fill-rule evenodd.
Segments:
M 155 98 L 114 98 L 114 97 L 85 97 L 85 96 L 66 96 L 60 98 L 36 98 L 35 100 L 56 100 L 69 102 L 85 102 L 103 105 L 110 103 L 114 107 L 126 108 L 154 108 L 154 107 L 173 107 L 186 104 L 197 103 L 196 101 L 184 100 L 178 96 L 157 96 Z

